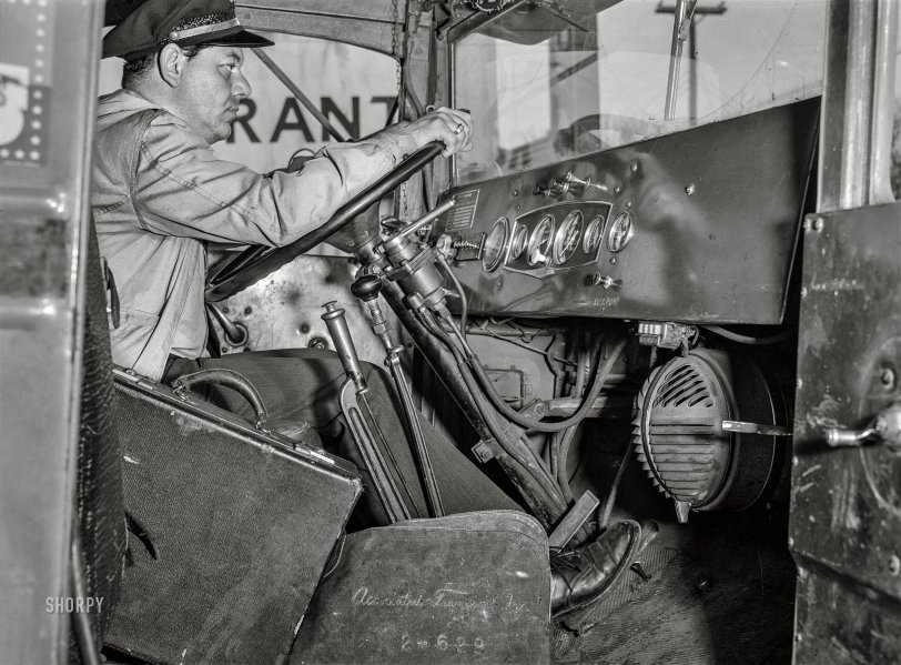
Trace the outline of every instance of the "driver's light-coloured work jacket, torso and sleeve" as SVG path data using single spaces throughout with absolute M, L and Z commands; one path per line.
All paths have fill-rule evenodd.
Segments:
M 113 362 L 159 379 L 170 354 L 204 354 L 207 242 L 293 242 L 415 148 L 395 125 L 267 177 L 217 159 L 188 123 L 134 92 L 102 97 L 91 206 L 119 299 Z

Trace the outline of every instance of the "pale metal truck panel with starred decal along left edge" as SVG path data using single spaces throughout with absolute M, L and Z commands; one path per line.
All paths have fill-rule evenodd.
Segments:
M 101 2 L 0 21 L 0 654 L 65 659 L 80 312 Z

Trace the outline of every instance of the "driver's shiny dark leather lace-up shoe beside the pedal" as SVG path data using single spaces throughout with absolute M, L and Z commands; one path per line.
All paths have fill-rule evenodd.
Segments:
M 617 522 L 597 540 L 576 550 L 550 553 L 550 613 L 555 619 L 586 609 L 629 568 L 641 541 L 641 526 Z

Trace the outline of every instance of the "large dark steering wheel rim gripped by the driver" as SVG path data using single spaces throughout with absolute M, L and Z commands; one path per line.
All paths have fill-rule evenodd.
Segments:
M 322 226 L 291 244 L 281 248 L 259 245 L 244 250 L 210 278 L 206 284 L 206 301 L 219 302 L 234 295 L 310 251 L 330 235 L 337 233 L 368 208 L 378 203 L 388 192 L 397 189 L 411 175 L 422 170 L 441 154 L 442 150 L 444 150 L 444 145 L 441 141 L 427 143 L 397 164 L 389 173 L 356 194 Z

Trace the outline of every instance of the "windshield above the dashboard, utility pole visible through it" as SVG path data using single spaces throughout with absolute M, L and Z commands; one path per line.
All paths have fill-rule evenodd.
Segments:
M 821 93 L 826 0 L 685 4 L 679 57 L 677 8 L 658 0 L 565 17 L 526 3 L 458 40 L 454 104 L 476 130 L 456 183 Z

